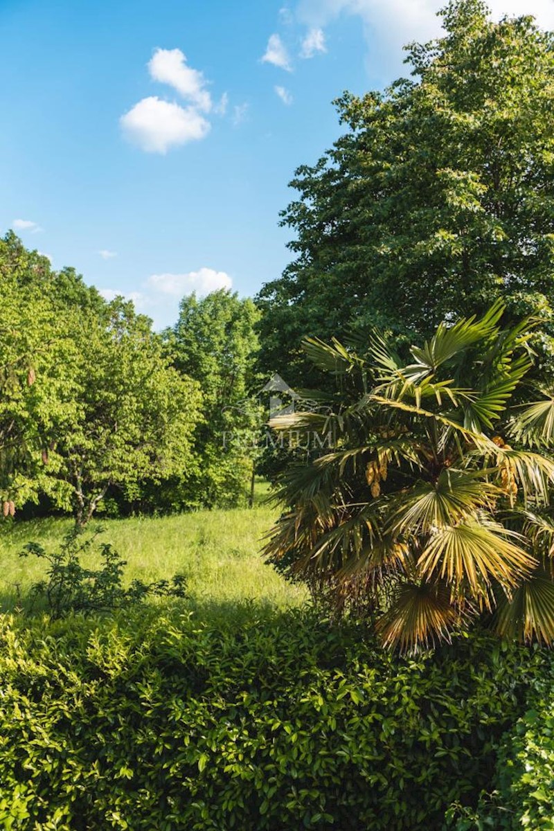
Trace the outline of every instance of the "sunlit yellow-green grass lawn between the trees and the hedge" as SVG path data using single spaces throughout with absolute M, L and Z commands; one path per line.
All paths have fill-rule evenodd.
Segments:
M 112 543 L 127 560 L 126 581 L 185 574 L 190 602 L 196 607 L 228 606 L 249 598 L 277 607 L 298 605 L 305 597 L 302 588 L 286 583 L 259 553 L 275 516 L 275 510 L 257 506 L 159 519 L 99 519 L 90 527 L 105 529 L 100 539 Z M 0 523 L 2 611 L 14 607 L 17 590 L 24 595 L 44 575 L 44 561 L 18 556 L 24 543 L 41 543 L 48 550 L 61 541 L 71 524 L 70 519 Z M 86 565 L 95 559 L 98 562 L 90 558 Z

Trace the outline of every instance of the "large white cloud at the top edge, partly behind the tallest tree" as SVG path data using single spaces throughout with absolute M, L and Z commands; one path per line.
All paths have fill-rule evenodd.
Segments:
M 439 36 L 441 20 L 436 12 L 443 5 L 439 0 L 300 0 L 297 17 L 317 29 L 342 13 L 358 15 L 379 59 L 390 65 L 400 63 L 405 43 Z M 488 6 L 495 19 L 532 14 L 540 26 L 554 29 L 552 0 L 488 0 Z

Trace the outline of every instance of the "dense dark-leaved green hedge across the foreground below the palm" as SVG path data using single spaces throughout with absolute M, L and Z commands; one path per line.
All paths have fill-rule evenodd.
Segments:
M 223 619 L 222 619 L 223 621 Z M 543 657 L 399 658 L 249 607 L 0 621 L 5 829 L 442 829 L 478 802 Z

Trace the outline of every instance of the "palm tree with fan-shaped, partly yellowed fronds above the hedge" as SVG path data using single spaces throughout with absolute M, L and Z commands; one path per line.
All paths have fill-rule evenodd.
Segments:
M 363 350 L 307 339 L 336 394 L 271 422 L 311 450 L 282 475 L 267 557 L 386 646 L 476 618 L 554 641 L 554 391 L 528 403 L 532 325 L 503 329 L 503 311 L 442 324 L 407 365 L 376 333 Z

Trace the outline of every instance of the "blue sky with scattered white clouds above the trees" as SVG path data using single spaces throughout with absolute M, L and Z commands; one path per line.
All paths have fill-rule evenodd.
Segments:
M 331 101 L 402 73 L 431 0 L 0 0 L 0 233 L 134 297 L 253 295 L 290 260 L 278 212 L 340 134 Z M 554 0 L 493 0 L 496 17 Z

